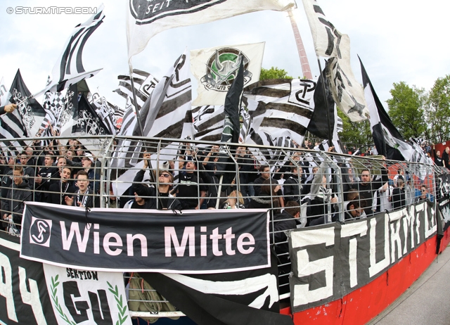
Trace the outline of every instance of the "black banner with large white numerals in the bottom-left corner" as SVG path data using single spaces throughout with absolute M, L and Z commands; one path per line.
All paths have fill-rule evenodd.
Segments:
M 58 324 L 42 264 L 19 250 L 19 238 L 0 231 L 0 324 Z

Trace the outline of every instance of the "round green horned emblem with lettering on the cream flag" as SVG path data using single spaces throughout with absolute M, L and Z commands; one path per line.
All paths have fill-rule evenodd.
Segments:
M 206 63 L 206 75 L 200 79 L 207 90 L 228 91 L 238 75 L 240 60 L 244 60 L 244 87 L 252 80 L 252 72 L 248 70 L 250 60 L 242 51 L 233 48 L 217 50 Z

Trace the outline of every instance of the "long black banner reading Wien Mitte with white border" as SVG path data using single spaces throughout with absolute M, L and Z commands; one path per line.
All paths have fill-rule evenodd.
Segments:
M 115 272 L 208 274 L 270 266 L 264 210 L 172 211 L 29 203 L 20 257 Z

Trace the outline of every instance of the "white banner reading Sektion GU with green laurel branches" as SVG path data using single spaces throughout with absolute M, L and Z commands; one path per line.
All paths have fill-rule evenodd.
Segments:
M 48 264 L 44 273 L 59 325 L 131 325 L 122 273 Z

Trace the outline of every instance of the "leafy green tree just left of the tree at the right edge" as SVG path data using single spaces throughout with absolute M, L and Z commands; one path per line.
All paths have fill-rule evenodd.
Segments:
M 404 139 L 425 134 L 426 121 L 424 106 L 427 100 L 425 89 L 409 87 L 405 82 L 394 82 L 388 99 L 389 116 Z

